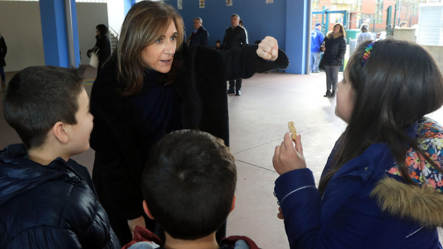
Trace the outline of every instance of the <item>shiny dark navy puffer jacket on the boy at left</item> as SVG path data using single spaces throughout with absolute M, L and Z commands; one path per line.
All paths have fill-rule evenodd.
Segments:
M 23 144 L 0 151 L 0 248 L 120 248 L 85 167 L 26 155 Z

